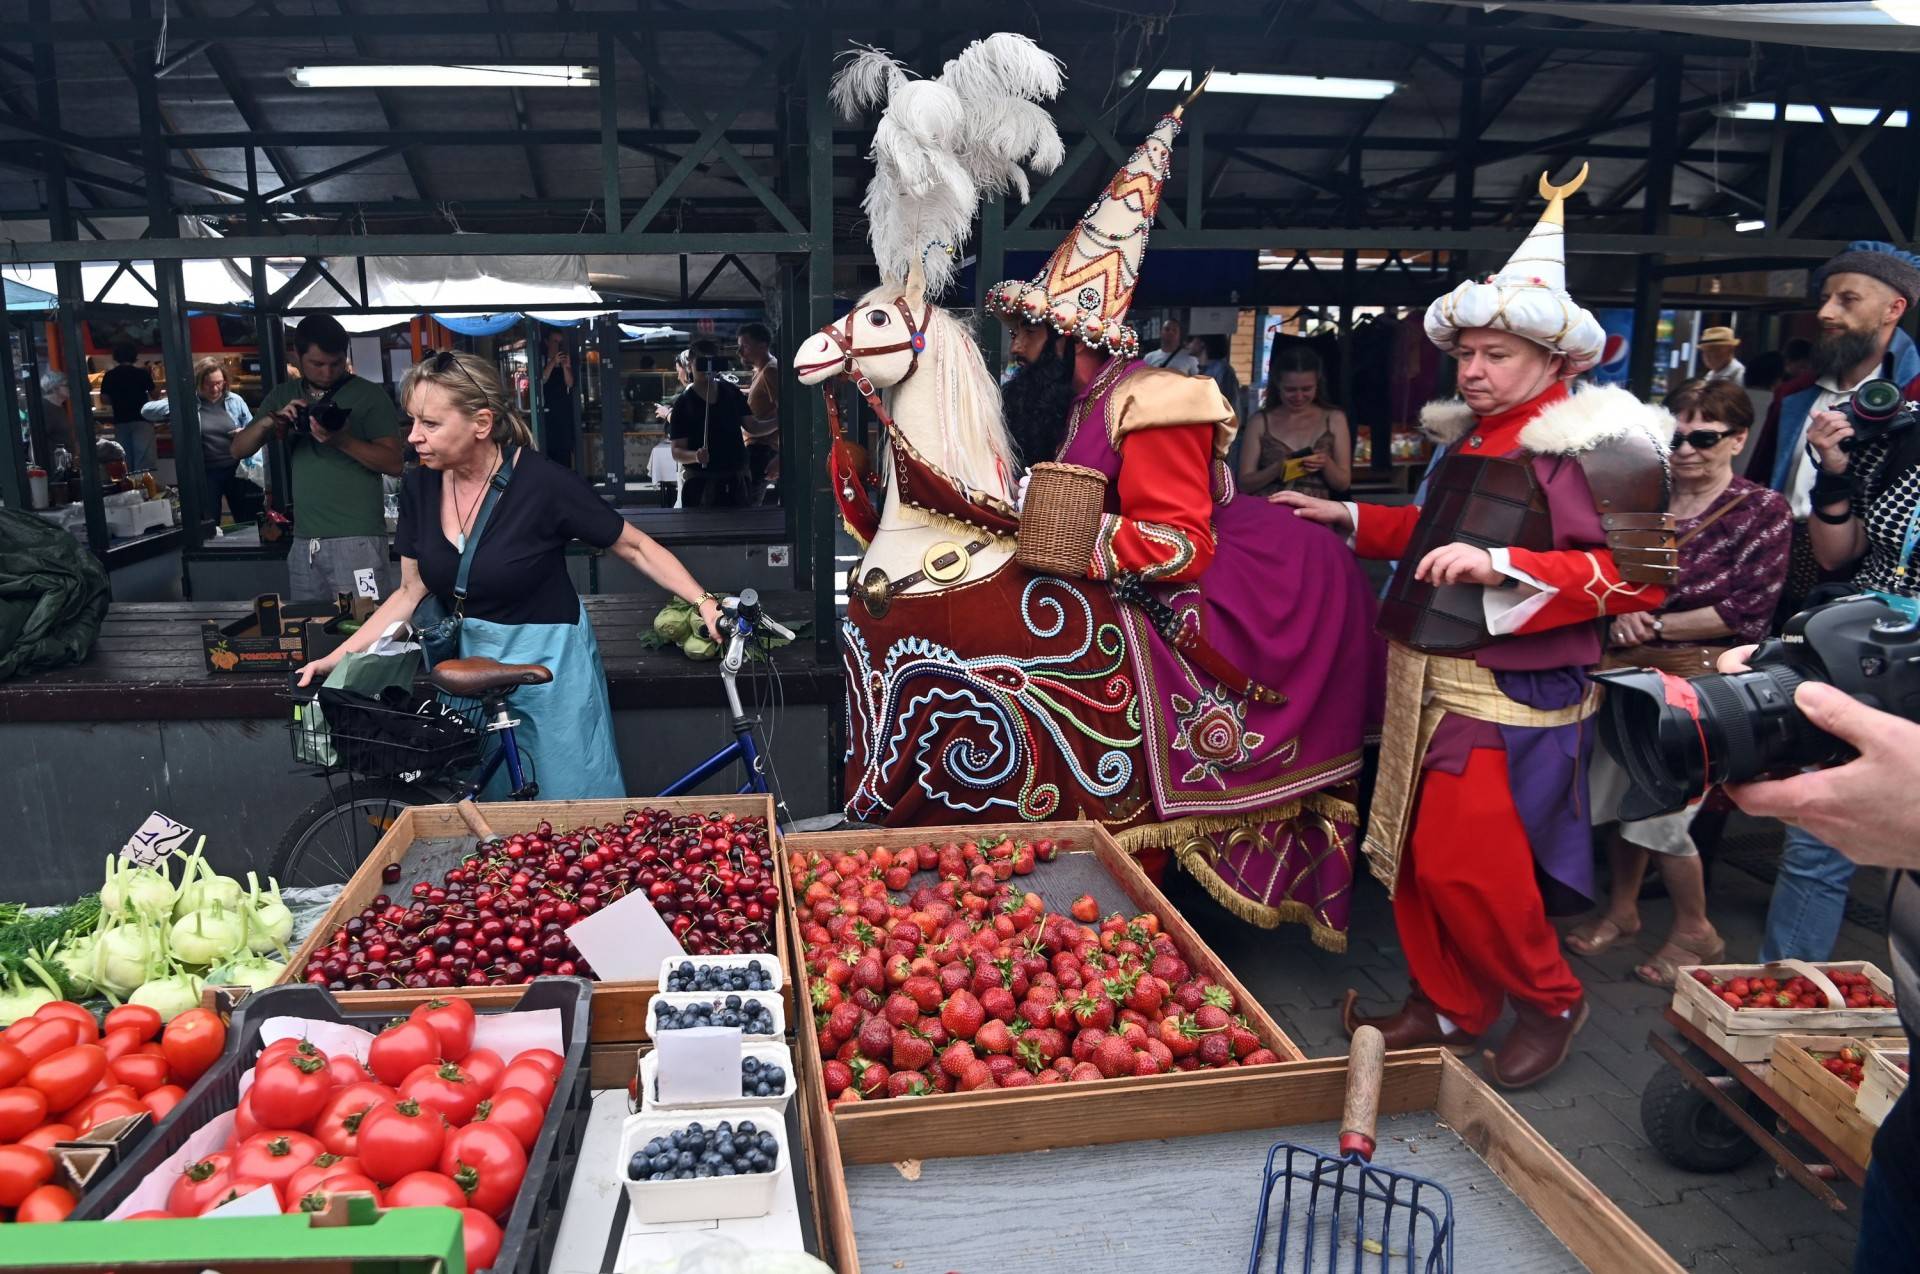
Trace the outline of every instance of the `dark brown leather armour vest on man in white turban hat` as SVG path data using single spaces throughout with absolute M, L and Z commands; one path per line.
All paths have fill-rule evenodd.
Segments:
M 1427 503 L 1380 601 L 1382 637 L 1423 654 L 1461 654 L 1494 641 L 1478 583 L 1434 587 L 1413 578 L 1430 551 L 1463 541 L 1480 549 L 1553 547 L 1553 518 L 1530 459 L 1453 453 L 1427 484 Z

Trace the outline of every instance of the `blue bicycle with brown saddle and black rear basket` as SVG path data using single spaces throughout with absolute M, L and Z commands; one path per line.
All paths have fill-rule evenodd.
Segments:
M 732 766 L 741 766 L 739 792 L 770 792 L 781 827 L 793 819 L 780 792 L 780 779 L 758 739 L 760 716 L 739 695 L 739 673 L 749 656 L 772 668 L 768 635 L 793 641 L 772 620 L 753 589 L 722 602 L 720 685 L 726 691 L 728 729 L 733 741 L 699 762 L 657 796 L 685 796 Z M 520 744 L 513 693 L 545 685 L 551 670 L 540 664 L 501 664 L 488 658 L 442 660 L 426 683 L 447 698 L 478 704 L 459 710 L 438 696 L 382 704 L 334 691 L 296 687 L 292 723 L 294 756 L 326 779 L 326 796 L 313 802 L 280 837 L 273 875 L 282 886 L 323 886 L 348 881 L 380 837 L 409 806 L 453 804 L 476 798 L 505 769 L 513 800 L 538 800 L 534 756 Z M 774 677 L 778 685 L 778 675 Z M 315 704 L 324 710 L 323 718 Z M 465 779 L 461 777 L 465 773 Z M 636 798 L 639 800 L 639 798 Z

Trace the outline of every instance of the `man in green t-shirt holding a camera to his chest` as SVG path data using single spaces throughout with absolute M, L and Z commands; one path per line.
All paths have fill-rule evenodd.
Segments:
M 371 578 L 386 597 L 392 578 L 386 549 L 386 505 L 380 476 L 399 476 L 403 451 L 399 413 L 374 382 L 348 370 L 348 332 L 338 318 L 307 315 L 294 328 L 300 380 L 290 380 L 261 405 L 253 424 L 234 432 L 234 459 L 267 445 L 275 430 L 288 443 L 294 470 L 294 547 L 286 556 L 288 601 L 328 601 L 359 595 Z M 342 422 L 326 407 L 346 414 Z M 296 428 L 301 409 L 309 424 Z M 336 428 L 326 428 L 326 414 Z M 371 572 L 367 576 L 365 572 Z

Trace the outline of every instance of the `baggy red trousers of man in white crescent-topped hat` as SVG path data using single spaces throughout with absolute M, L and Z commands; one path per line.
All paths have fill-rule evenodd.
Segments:
M 1394 921 L 1415 986 L 1461 1030 L 1490 1028 L 1507 996 L 1549 1015 L 1580 1002 L 1500 748 L 1473 748 L 1459 775 L 1421 775 Z

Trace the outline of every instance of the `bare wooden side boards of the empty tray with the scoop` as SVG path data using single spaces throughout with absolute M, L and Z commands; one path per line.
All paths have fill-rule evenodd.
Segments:
M 847 1168 L 983 1153 L 1116 1145 L 1219 1132 L 1273 1130 L 1336 1121 L 1346 1094 L 1346 1059 L 1288 1061 L 1235 1071 L 1187 1071 L 1152 1088 L 1135 1084 L 1060 1084 L 1012 1092 L 956 1094 L 956 1101 L 879 1101 L 841 1107 L 812 1132 L 812 1186 L 826 1218 L 824 1259 L 841 1274 L 858 1274 L 860 1253 L 847 1193 Z M 1392 1053 L 1380 1090 L 1380 1113 L 1430 1113 L 1452 1128 L 1507 1190 L 1592 1270 L 1678 1274 L 1680 1266 L 1642 1232 L 1546 1138 L 1465 1065 L 1442 1050 Z M 991 1147 L 991 1149 L 983 1149 Z M 1331 1147 L 1329 1147 L 1331 1149 Z M 1248 1165 L 1258 1170 L 1258 1161 Z M 1052 1199 L 1058 1205 L 1060 1199 Z M 1079 1203 L 1085 1203 L 1081 1199 Z M 1125 1224 L 1123 1197 L 1112 1205 Z M 1133 1220 L 1142 1234 L 1165 1216 Z M 1177 1224 L 1177 1222 L 1175 1222 Z M 1246 1216 L 1252 1236 L 1252 1216 Z M 1116 1238 L 1123 1238 L 1117 1234 Z M 1469 1234 L 1455 1238 L 1457 1268 L 1480 1268 Z M 989 1249 L 991 1251 L 991 1249 Z M 876 1264 L 876 1270 L 883 1268 Z M 970 1266 L 972 1268 L 972 1266 Z

